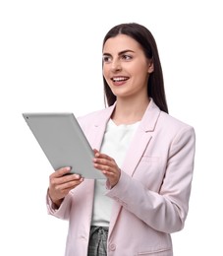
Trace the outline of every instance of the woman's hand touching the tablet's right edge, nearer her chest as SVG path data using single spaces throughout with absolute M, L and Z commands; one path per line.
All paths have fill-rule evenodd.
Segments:
M 97 150 L 94 151 L 94 167 L 101 170 L 102 173 L 107 177 L 111 187 L 114 187 L 120 178 L 121 171 L 116 161 L 105 154 L 99 153 Z

